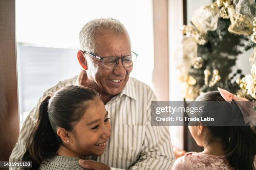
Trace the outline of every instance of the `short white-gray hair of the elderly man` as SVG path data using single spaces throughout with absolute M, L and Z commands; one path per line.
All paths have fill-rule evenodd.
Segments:
M 79 33 L 80 50 L 88 50 L 95 53 L 97 44 L 95 42 L 95 35 L 97 31 L 112 31 L 115 34 L 126 34 L 131 45 L 131 40 L 124 25 L 114 18 L 100 18 L 91 20 L 86 23 Z

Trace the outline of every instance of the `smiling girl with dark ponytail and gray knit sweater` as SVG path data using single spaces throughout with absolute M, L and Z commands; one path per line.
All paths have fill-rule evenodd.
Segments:
M 82 170 L 78 160 L 102 155 L 110 129 L 108 112 L 96 92 L 64 87 L 41 102 L 23 161 L 32 161 L 34 170 Z

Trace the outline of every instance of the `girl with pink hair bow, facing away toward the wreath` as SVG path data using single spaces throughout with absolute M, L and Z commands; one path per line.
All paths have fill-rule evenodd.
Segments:
M 231 113 L 231 115 L 225 114 L 226 112 L 224 114 L 215 112 L 222 108 L 218 109 L 212 106 L 211 102 L 209 105 L 204 105 L 201 116 L 206 117 L 206 115 L 211 115 L 211 117 L 215 117 L 218 120 L 231 120 L 230 117 L 243 118 L 244 116 L 241 112 L 241 107 L 238 106 L 238 101 L 246 101 L 246 99 L 220 88 L 218 90 L 219 92 L 206 92 L 197 97 L 196 100 L 218 101 L 216 103 L 232 101 L 227 107 L 228 110 L 225 110 Z M 195 139 L 197 145 L 204 147 L 204 150 L 201 153 L 186 153 L 175 161 L 172 169 L 256 170 L 256 134 L 252 129 L 255 127 L 250 127 L 244 120 L 243 123 L 243 126 L 211 126 L 210 124 L 204 125 L 204 122 L 199 121 L 194 125 L 189 125 L 189 131 L 192 137 Z

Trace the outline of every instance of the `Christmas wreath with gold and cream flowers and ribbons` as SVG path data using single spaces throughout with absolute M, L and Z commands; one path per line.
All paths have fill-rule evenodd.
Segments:
M 195 100 L 217 87 L 256 100 L 255 0 L 217 0 L 200 7 L 182 32 L 182 62 L 178 68 L 186 100 Z M 251 74 L 243 75 L 236 60 L 251 48 Z

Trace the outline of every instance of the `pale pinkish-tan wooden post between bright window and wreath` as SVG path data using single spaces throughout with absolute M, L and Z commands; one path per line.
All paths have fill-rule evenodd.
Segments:
M 154 91 L 158 100 L 169 99 L 168 0 L 153 0 Z

